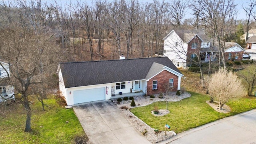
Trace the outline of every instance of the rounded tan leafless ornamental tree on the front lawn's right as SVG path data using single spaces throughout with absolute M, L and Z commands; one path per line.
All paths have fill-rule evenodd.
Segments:
M 222 109 L 224 104 L 232 98 L 242 96 L 244 87 L 235 73 L 222 68 L 210 77 L 208 91 L 211 96 L 216 96 Z

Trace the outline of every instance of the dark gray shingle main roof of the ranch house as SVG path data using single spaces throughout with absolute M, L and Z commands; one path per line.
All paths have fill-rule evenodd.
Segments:
M 60 63 L 65 88 L 143 80 L 156 62 L 182 74 L 168 57 Z

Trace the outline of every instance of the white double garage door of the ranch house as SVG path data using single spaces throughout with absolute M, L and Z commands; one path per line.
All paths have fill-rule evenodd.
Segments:
M 105 100 L 105 88 L 74 91 L 74 104 L 92 102 L 96 100 Z

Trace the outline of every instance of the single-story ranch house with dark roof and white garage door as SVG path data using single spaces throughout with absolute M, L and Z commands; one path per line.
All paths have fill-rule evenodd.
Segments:
M 180 90 L 183 74 L 167 57 L 60 63 L 60 93 L 67 105 L 110 100 L 119 92 Z

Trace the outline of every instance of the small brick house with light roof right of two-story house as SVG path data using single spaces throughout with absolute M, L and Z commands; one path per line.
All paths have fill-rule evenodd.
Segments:
M 244 48 L 236 42 L 225 42 L 224 54 L 226 60 L 242 60 Z

